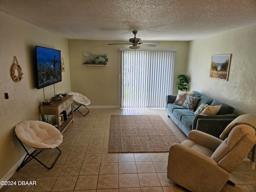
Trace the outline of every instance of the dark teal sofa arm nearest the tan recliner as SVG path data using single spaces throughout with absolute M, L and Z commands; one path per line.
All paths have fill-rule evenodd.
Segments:
M 235 118 L 234 114 L 226 115 L 201 115 L 196 114 L 193 119 L 192 130 L 200 130 L 202 132 L 213 135 L 217 138 L 224 131 L 226 126 L 230 124 Z

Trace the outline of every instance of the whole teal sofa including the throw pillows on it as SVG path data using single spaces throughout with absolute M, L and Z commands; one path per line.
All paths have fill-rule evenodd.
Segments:
M 193 105 L 194 109 L 191 110 Z M 191 130 L 200 130 L 219 138 L 226 126 L 237 117 L 232 114 L 233 112 L 234 108 L 232 106 L 214 100 L 198 91 L 192 91 L 191 93 L 179 91 L 178 97 L 177 95 L 166 96 L 168 117 L 187 136 Z

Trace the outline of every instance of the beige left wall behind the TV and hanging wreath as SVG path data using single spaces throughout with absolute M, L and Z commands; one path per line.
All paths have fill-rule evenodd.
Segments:
M 3 178 L 25 154 L 14 137 L 14 127 L 24 120 L 40 119 L 38 106 L 44 100 L 44 93 L 43 89 L 36 89 L 34 83 L 36 45 L 61 50 L 65 72 L 62 72 L 62 82 L 55 86 L 56 93 L 65 93 L 71 88 L 68 40 L 4 12 L 0 12 L 0 18 L 0 178 Z M 18 83 L 10 73 L 14 55 L 24 73 Z M 9 99 L 5 99 L 6 92 Z M 48 98 L 54 96 L 53 86 L 45 88 L 45 92 Z M 15 141 L 13 149 L 12 140 Z

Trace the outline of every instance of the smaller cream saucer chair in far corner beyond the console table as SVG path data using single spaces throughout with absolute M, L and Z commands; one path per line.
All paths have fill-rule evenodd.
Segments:
M 90 103 L 91 103 L 90 100 L 86 96 L 84 96 L 84 95 L 82 95 L 80 93 L 69 92 L 68 94 L 69 95 L 73 95 L 73 102 L 78 104 L 77 107 L 75 107 L 73 105 L 73 107 L 75 108 L 74 112 L 77 110 L 82 116 L 86 116 L 90 112 L 90 110 L 86 107 L 86 106 L 90 105 Z M 80 112 L 78 110 L 81 106 L 84 106 L 88 110 L 88 112 L 85 115 L 82 114 L 82 112 Z

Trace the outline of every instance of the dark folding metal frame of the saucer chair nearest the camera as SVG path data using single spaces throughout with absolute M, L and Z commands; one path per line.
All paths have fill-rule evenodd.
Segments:
M 21 122 L 20 124 L 18 124 L 17 126 L 20 126 L 22 124 L 26 124 L 27 122 L 40 122 L 40 124 L 48 124 L 46 122 L 41 122 L 41 121 L 24 121 L 24 122 Z M 17 128 L 16 126 L 16 128 Z M 47 126 L 52 126 L 51 124 L 48 124 Z M 26 164 L 28 164 L 32 159 L 35 159 L 37 162 L 39 162 L 42 166 L 44 166 L 45 168 L 47 169 L 52 169 L 53 166 L 55 165 L 55 163 L 57 162 L 58 158 L 60 157 L 61 155 L 61 150 L 57 147 L 57 146 L 49 146 L 49 148 L 40 148 L 40 147 L 35 147 L 35 146 L 31 146 L 31 144 L 28 144 L 28 142 L 22 140 L 19 138 L 19 136 L 17 135 L 17 130 L 15 128 L 15 136 L 16 138 L 18 139 L 18 141 L 20 142 L 21 146 L 24 148 L 24 150 L 26 151 L 26 155 L 22 161 L 22 163 L 20 164 L 20 166 L 17 168 L 17 171 L 20 170 L 20 168 L 22 168 L 23 166 L 25 166 Z M 58 130 L 56 129 L 54 126 L 52 126 L 52 128 L 54 128 L 54 130 Z M 56 131 L 55 131 L 56 132 Z M 19 134 L 19 133 L 18 133 Z M 60 136 L 62 136 L 62 134 L 60 133 Z M 63 136 L 61 137 L 63 138 Z M 62 142 L 62 141 L 61 141 Z M 61 143 L 60 142 L 60 143 Z M 32 148 L 35 148 L 35 150 L 32 152 L 32 153 L 29 153 L 28 150 L 26 149 L 26 147 L 24 146 L 24 144 L 27 144 L 28 146 L 31 146 Z M 40 144 L 39 142 L 37 144 Z M 44 143 L 45 145 L 45 143 Z M 38 158 L 36 158 L 36 156 L 38 156 L 43 150 L 46 150 L 46 149 L 53 149 L 53 148 L 56 148 L 57 150 L 59 150 L 59 154 L 58 156 L 56 157 L 56 159 L 54 160 L 54 163 L 52 164 L 52 166 L 46 166 L 43 162 L 41 162 Z M 38 152 L 36 152 L 38 151 Z

